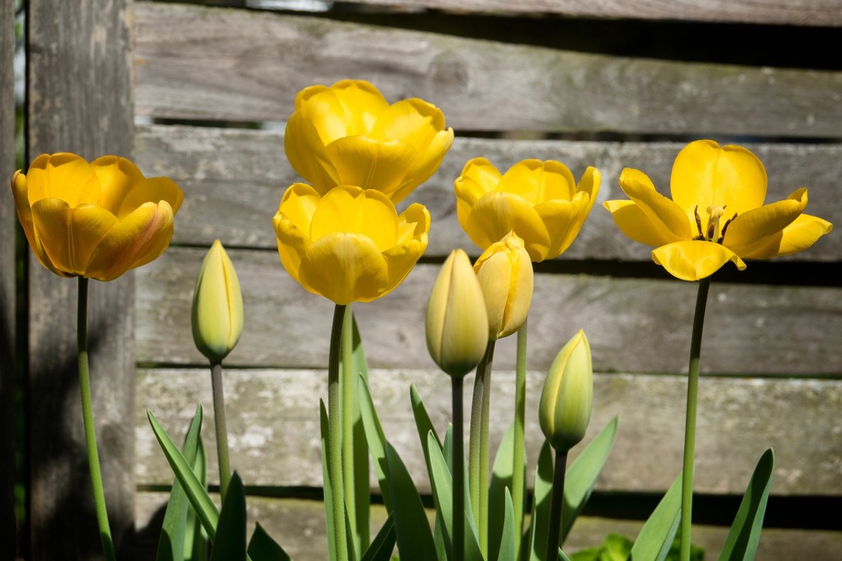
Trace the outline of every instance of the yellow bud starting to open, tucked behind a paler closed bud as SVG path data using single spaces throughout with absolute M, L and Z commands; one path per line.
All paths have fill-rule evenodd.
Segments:
M 509 232 L 488 246 L 474 271 L 488 312 L 488 339 L 496 341 L 518 331 L 532 303 L 532 262 L 524 241 Z

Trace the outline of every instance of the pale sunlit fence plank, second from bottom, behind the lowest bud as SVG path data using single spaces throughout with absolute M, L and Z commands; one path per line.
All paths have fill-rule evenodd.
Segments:
M 526 445 L 532 465 L 543 442 L 537 410 L 545 373 L 530 370 L 526 388 Z M 327 394 L 323 370 L 238 370 L 225 376 L 232 468 L 248 485 L 321 487 L 318 402 Z M 472 387 L 467 379 L 466 387 Z M 419 488 L 429 490 L 409 406 L 415 384 L 438 431 L 450 421 L 450 378 L 435 370 L 370 373 L 371 394 L 386 438 L 401 454 Z M 514 409 L 514 373 L 493 373 L 490 438 L 502 437 Z M 470 407 L 470 391 L 466 407 Z M 585 441 L 620 415 L 614 451 L 597 483 L 604 491 L 663 491 L 681 468 L 686 378 L 595 374 L 594 414 Z M 168 484 L 172 474 L 149 428 L 152 409 L 180 439 L 195 411 L 205 408 L 203 437 L 210 479 L 216 480 L 213 412 L 207 371 L 141 369 L 136 376 L 136 480 Z M 842 381 L 702 378 L 696 440 L 695 490 L 742 495 L 755 463 L 775 448 L 774 495 L 842 495 Z M 573 449 L 578 454 L 581 447 Z M 531 471 L 531 468 L 530 468 Z M 372 479 L 372 484 L 376 481 Z

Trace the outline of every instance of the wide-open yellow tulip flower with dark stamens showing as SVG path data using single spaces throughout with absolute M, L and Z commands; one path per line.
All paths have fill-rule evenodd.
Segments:
M 631 200 L 605 202 L 626 236 L 656 246 L 654 262 L 674 277 L 698 280 L 743 259 L 769 259 L 807 249 L 833 229 L 827 220 L 802 214 L 807 189 L 763 204 L 766 171 L 742 146 L 696 140 L 673 164 L 672 200 L 644 173 L 626 168 L 620 186 Z

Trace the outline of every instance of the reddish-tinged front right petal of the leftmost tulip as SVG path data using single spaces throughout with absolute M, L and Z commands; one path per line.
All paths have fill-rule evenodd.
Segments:
M 85 276 L 113 280 L 160 256 L 173 239 L 173 208 L 146 203 L 112 227 L 93 251 Z

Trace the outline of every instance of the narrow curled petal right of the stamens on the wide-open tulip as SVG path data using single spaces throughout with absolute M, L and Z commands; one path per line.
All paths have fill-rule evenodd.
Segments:
M 725 232 L 723 243 L 740 256 L 748 257 L 759 247 L 767 246 L 807 207 L 807 189 L 798 189 L 786 200 L 765 204 L 739 214 Z

